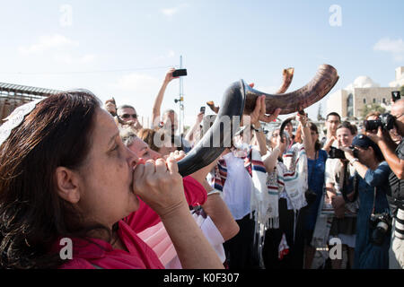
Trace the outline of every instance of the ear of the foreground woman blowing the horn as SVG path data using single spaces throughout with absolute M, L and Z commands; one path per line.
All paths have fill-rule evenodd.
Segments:
M 58 167 L 55 171 L 58 196 L 71 204 L 77 204 L 80 200 L 79 177 L 73 170 Z

